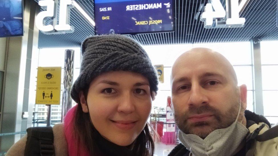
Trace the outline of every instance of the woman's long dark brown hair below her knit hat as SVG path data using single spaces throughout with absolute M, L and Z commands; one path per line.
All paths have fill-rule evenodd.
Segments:
M 87 99 L 87 92 L 84 92 L 85 99 Z M 93 134 L 97 130 L 91 122 L 89 113 L 84 113 L 79 103 L 75 112 L 74 120 L 74 134 L 78 143 L 83 145 L 85 149 L 89 151 L 90 155 L 104 155 L 103 151 L 100 151 L 97 144 L 94 142 Z M 150 133 L 149 124 L 147 123 L 134 141 L 132 153 L 136 153 L 138 156 L 152 156 L 154 155 L 154 141 Z

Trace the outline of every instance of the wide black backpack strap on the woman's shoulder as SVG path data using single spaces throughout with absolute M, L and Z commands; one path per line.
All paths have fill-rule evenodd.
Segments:
M 30 127 L 27 130 L 24 156 L 54 156 L 54 135 L 51 126 Z

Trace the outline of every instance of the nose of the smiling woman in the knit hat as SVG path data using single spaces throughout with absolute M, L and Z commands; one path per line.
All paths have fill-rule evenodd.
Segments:
M 118 112 L 132 113 L 135 111 L 134 97 L 131 93 L 124 93 L 118 104 Z

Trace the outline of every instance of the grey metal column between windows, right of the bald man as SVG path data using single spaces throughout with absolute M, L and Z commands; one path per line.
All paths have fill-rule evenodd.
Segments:
M 253 38 L 251 41 L 252 50 L 252 64 L 253 77 L 254 77 L 254 89 L 255 89 L 255 113 L 263 115 L 263 86 L 262 86 L 262 74 L 261 74 L 261 44 L 260 40 Z

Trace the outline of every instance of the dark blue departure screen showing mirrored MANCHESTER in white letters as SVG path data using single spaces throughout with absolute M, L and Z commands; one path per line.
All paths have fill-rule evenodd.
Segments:
M 173 0 L 95 0 L 95 33 L 173 32 Z

